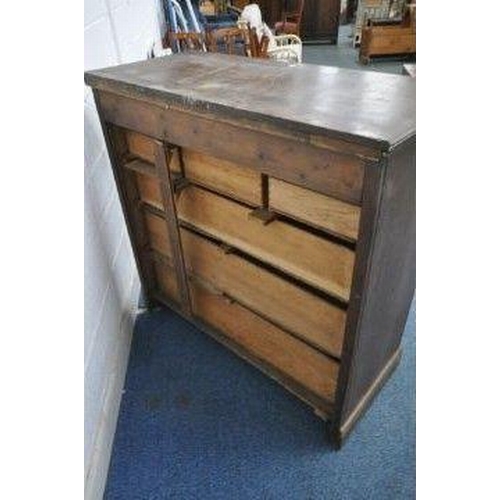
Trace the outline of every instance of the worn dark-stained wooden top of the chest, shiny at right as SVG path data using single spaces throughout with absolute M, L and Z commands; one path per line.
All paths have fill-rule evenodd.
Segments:
M 89 71 L 98 89 L 391 149 L 415 135 L 415 80 L 330 66 L 179 54 Z

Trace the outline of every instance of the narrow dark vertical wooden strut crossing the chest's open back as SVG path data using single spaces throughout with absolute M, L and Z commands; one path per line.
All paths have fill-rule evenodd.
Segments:
M 174 200 L 174 182 L 170 172 L 169 164 L 172 159 L 171 147 L 165 148 L 160 141 L 155 141 L 155 167 L 160 179 L 163 206 L 165 207 L 165 223 L 167 233 L 170 237 L 172 255 L 177 278 L 177 286 L 180 296 L 180 307 L 182 312 L 188 316 L 192 315 L 191 300 L 189 297 L 189 285 L 182 251 L 181 235 L 177 223 L 177 209 Z

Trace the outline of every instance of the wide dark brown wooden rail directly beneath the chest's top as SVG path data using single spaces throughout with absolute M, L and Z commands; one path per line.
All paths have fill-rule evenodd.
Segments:
M 99 95 L 110 123 L 361 203 L 364 163 L 357 156 L 108 92 Z

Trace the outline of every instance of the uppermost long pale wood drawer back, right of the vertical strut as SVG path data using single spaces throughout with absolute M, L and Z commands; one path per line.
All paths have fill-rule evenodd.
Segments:
M 179 219 L 348 301 L 354 252 L 290 224 L 263 225 L 249 217 L 248 208 L 190 186 L 177 198 Z

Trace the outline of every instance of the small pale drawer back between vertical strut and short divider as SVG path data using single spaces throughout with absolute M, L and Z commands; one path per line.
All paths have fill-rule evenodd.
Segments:
M 183 149 L 182 158 L 190 181 L 251 205 L 260 204 L 258 172 L 191 149 Z

